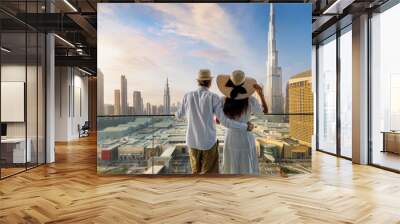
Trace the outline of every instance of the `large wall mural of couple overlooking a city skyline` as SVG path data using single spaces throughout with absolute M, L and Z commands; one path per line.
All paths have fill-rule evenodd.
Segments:
M 99 174 L 311 172 L 311 4 L 99 3 Z

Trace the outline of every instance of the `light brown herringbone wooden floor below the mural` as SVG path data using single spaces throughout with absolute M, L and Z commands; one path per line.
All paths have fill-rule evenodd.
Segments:
M 0 223 L 400 223 L 400 175 L 315 153 L 283 177 L 102 177 L 96 143 L 0 181 Z

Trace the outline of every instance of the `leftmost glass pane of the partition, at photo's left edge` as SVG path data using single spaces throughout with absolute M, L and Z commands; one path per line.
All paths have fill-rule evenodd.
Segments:
M 25 170 L 26 150 L 26 34 L 1 34 L 1 160 L 2 177 Z

